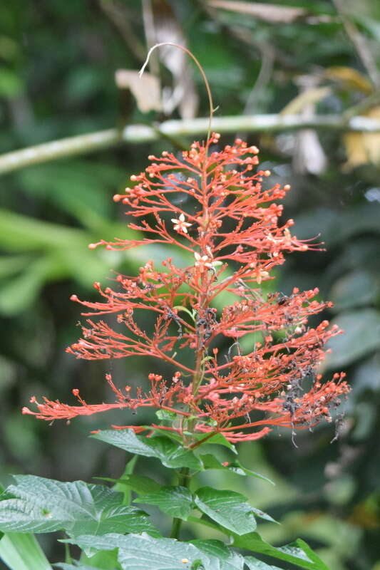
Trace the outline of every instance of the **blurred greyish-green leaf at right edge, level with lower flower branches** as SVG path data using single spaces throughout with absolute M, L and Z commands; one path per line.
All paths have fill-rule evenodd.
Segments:
M 362 309 L 340 314 L 332 321 L 344 330 L 327 343 L 332 353 L 327 354 L 325 365 L 336 369 L 362 358 L 380 348 L 380 312 Z

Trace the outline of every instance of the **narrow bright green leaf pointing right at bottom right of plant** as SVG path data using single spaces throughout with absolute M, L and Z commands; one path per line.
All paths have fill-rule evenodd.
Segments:
M 265 542 L 265 540 L 260 537 L 260 534 L 252 532 L 244 537 L 234 536 L 233 545 L 237 546 L 237 548 L 251 550 L 272 556 L 278 560 L 290 562 L 295 566 L 299 566 L 299 568 L 307 570 L 329 570 L 317 554 L 301 539 L 297 539 L 286 546 L 276 548 Z

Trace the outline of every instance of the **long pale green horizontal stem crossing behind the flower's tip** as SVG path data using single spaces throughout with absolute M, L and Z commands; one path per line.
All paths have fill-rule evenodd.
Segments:
M 138 144 L 153 142 L 160 137 L 194 136 L 207 133 L 209 118 L 167 120 L 160 125 L 128 125 L 123 130 L 116 128 L 100 130 L 97 133 L 78 135 L 45 142 L 42 145 L 6 152 L 0 155 L 0 174 L 19 170 L 30 165 L 49 162 L 58 158 L 84 155 L 121 143 Z M 379 133 L 380 120 L 369 117 L 343 115 L 315 115 L 304 118 L 300 115 L 237 115 L 213 119 L 213 128 L 218 133 L 280 133 L 289 130 L 313 128 L 331 131 L 354 131 Z

